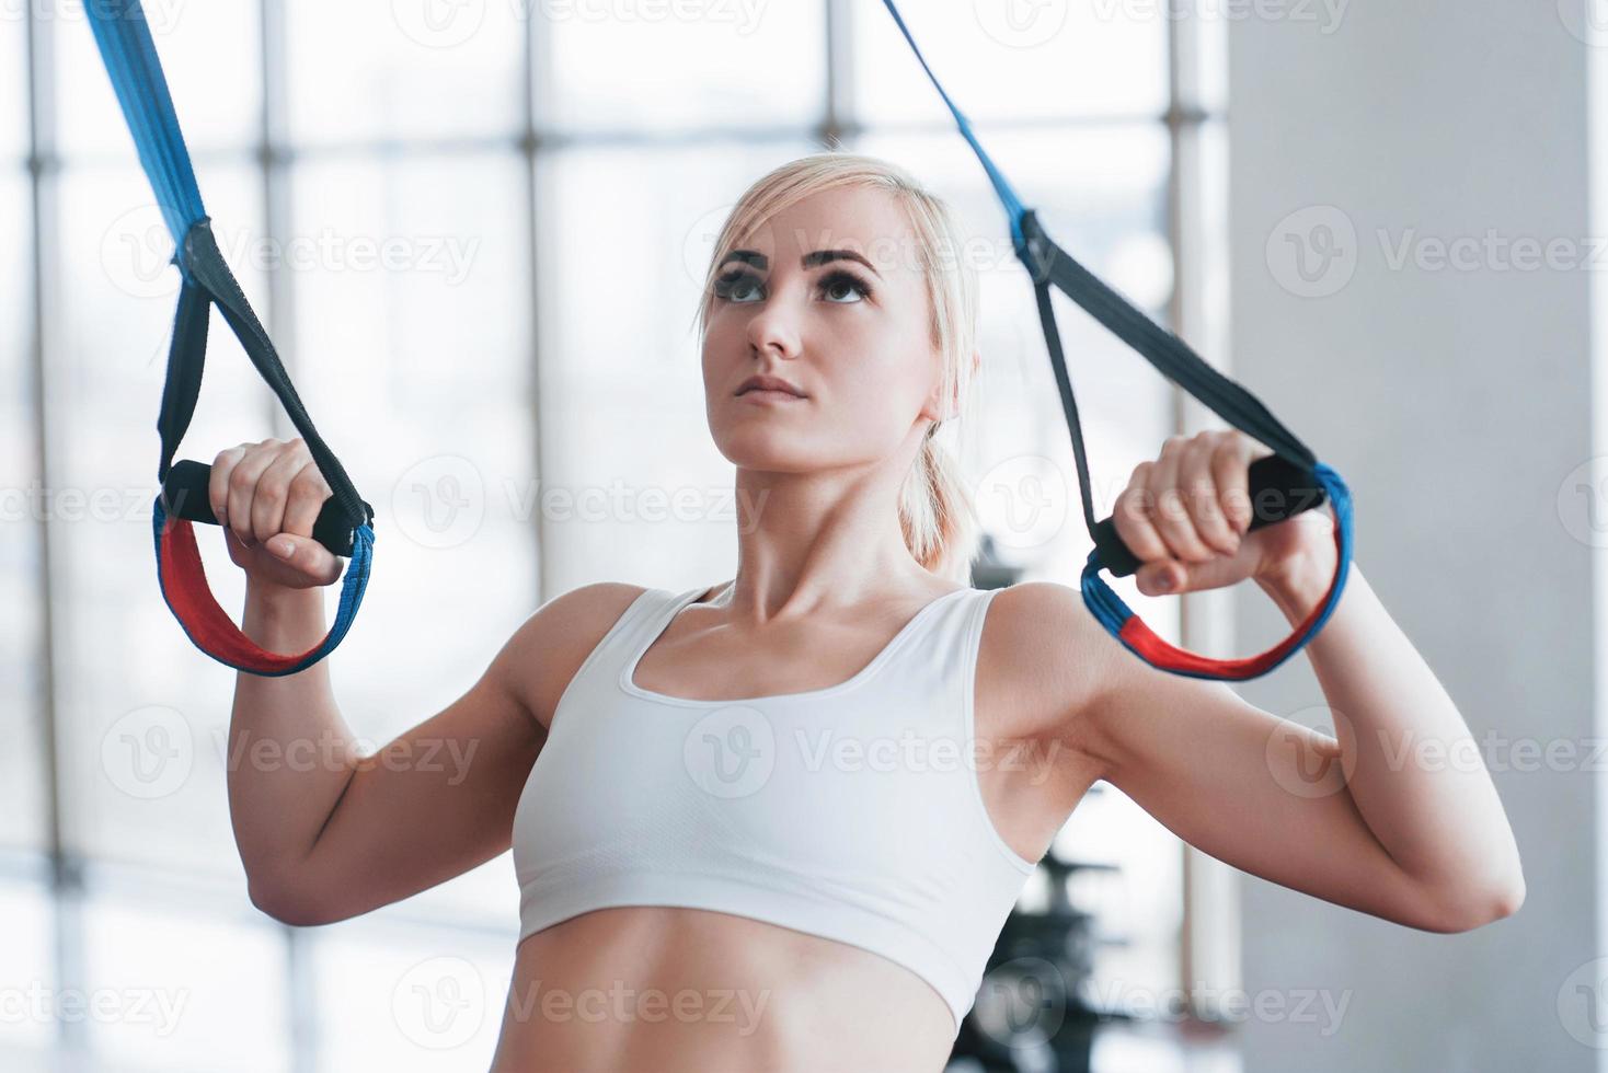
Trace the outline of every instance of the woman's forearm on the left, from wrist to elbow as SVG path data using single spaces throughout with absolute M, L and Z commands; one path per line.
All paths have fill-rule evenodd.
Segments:
M 241 630 L 273 652 L 304 652 L 328 633 L 323 591 L 246 586 Z M 330 662 L 280 678 L 241 671 L 228 726 L 228 808 L 254 888 L 306 859 L 354 768 Z

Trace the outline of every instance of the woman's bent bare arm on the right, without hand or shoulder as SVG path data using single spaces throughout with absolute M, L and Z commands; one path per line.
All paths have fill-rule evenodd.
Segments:
M 1484 766 L 1401 763 L 1401 742 L 1478 752 L 1356 565 L 1307 652 L 1338 740 L 1127 652 L 1084 713 L 1085 737 L 1113 785 L 1253 875 L 1431 932 L 1515 912 L 1518 850 Z

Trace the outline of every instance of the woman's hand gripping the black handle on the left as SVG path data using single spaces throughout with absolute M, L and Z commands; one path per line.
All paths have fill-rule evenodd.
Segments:
M 312 525 L 330 495 L 299 439 L 219 451 L 207 482 L 228 557 L 251 581 L 280 588 L 333 585 L 341 577 L 341 561 L 312 540 Z M 283 541 L 288 554 L 281 556 L 275 549 Z

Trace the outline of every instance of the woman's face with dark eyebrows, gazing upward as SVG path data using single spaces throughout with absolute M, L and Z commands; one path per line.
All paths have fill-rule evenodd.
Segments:
M 722 255 L 703 374 L 709 429 L 727 459 L 812 472 L 918 447 L 921 418 L 942 410 L 915 252 L 915 231 L 888 194 L 833 190 L 777 214 Z M 751 376 L 801 395 L 740 394 Z

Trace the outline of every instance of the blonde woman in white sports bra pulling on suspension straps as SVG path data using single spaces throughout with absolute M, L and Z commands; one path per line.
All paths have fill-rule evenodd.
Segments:
M 1097 779 L 1327 901 L 1434 932 L 1512 914 L 1524 883 L 1484 768 L 1401 760 L 1468 728 L 1356 567 L 1307 647 L 1338 740 L 1147 667 L 1073 588 L 957 583 L 974 525 L 934 434 L 978 365 L 958 249 L 944 204 L 876 159 L 754 183 L 699 310 L 736 577 L 545 604 L 397 742 L 468 773 L 232 769 L 252 901 L 343 920 L 513 847 L 495 1068 L 614 1071 L 942 1068 L 1016 891 Z M 1317 604 L 1331 520 L 1248 532 L 1256 456 L 1208 432 L 1134 471 L 1116 514 L 1140 591 L 1254 578 L 1291 623 Z M 265 647 L 323 636 L 317 586 L 341 564 L 309 533 L 328 493 L 299 442 L 214 461 Z M 230 732 L 351 742 L 326 663 L 243 675 Z

